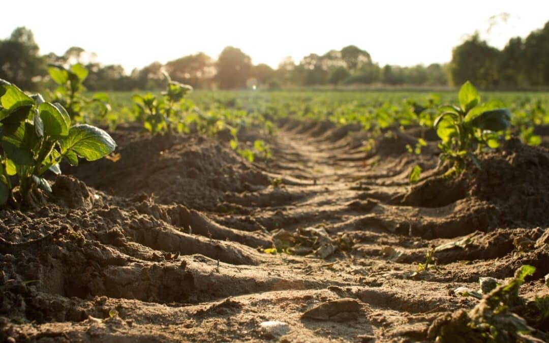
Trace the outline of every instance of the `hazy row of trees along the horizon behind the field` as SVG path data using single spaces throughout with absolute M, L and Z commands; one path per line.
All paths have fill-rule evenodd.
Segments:
M 217 60 L 197 53 L 171 60 L 156 61 L 126 74 L 121 65 L 103 65 L 94 54 L 71 47 L 63 55 L 40 55 L 32 31 L 15 29 L 0 41 L 0 78 L 29 91 L 48 86 L 48 64 L 82 63 L 89 70 L 85 86 L 91 91 L 154 90 L 163 87 L 162 71 L 173 80 L 195 88 L 241 89 L 253 86 L 284 88 L 295 86 L 380 85 L 455 86 L 469 80 L 482 88 L 531 88 L 549 86 L 549 22 L 526 38 L 514 37 L 505 48 L 497 49 L 481 40 L 478 33 L 452 50 L 447 64 L 428 66 L 380 66 L 371 55 L 356 46 L 311 53 L 299 63 L 288 57 L 277 69 L 254 65 L 249 55 L 226 47 Z

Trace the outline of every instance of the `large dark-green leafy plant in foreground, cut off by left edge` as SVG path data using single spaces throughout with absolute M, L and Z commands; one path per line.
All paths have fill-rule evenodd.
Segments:
M 0 206 L 12 200 L 26 201 L 40 188 L 51 192 L 46 171 L 60 174 L 65 159 L 78 165 L 78 158 L 94 161 L 110 154 L 116 144 L 109 134 L 91 125 L 71 126 L 69 113 L 59 103 L 42 95 L 27 95 L 0 79 Z M 17 179 L 14 183 L 13 179 Z

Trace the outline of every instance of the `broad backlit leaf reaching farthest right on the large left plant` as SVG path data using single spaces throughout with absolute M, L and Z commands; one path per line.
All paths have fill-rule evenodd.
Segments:
M 88 161 L 94 161 L 108 155 L 116 148 L 116 143 L 109 134 L 98 127 L 75 125 L 70 128 L 69 136 L 62 138 L 61 154 L 74 162 L 74 153 Z M 69 153 L 69 155 L 67 155 Z

